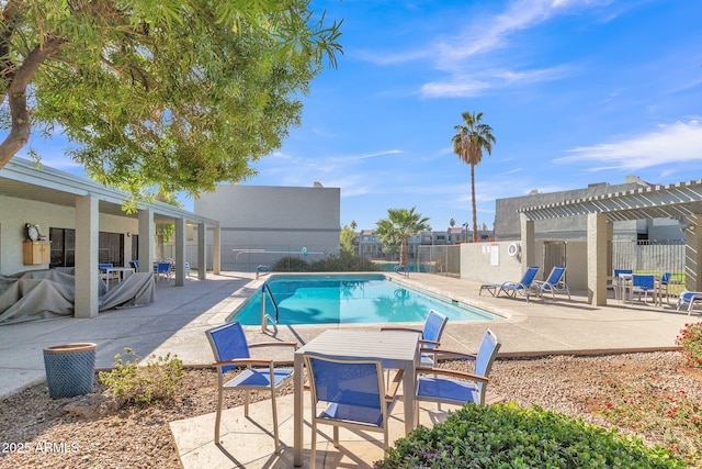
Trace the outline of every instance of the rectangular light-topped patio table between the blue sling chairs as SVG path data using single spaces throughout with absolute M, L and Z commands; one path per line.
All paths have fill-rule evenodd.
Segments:
M 381 360 L 383 367 L 403 369 L 405 432 L 416 426 L 415 368 L 419 366 L 419 334 L 392 331 L 328 330 L 295 351 L 294 444 L 295 466 L 303 465 L 303 370 L 305 354 Z

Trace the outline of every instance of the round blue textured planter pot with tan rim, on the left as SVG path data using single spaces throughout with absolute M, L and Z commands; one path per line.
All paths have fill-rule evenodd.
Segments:
M 44 349 L 48 395 L 72 398 L 92 392 L 97 344 L 66 344 Z

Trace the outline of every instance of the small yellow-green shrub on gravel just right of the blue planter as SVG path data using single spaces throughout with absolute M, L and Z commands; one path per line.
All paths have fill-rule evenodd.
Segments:
M 148 405 L 152 402 L 166 402 L 176 397 L 183 381 L 183 362 L 171 354 L 165 357 L 151 355 L 145 366 L 138 366 L 139 357 L 128 347 L 124 349 L 134 357 L 123 361 L 115 355 L 112 371 L 100 371 L 100 381 L 118 397 L 124 404 Z

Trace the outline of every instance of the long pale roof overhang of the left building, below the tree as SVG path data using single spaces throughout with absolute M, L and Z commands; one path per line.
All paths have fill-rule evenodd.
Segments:
M 70 172 L 46 166 L 37 167 L 32 161 L 19 157 L 13 157 L 0 169 L 0 194 L 71 208 L 76 206 L 77 196 L 92 196 L 99 200 L 100 213 L 138 217 L 138 213 L 126 213 L 122 209 L 123 202 L 128 199 L 127 193 Z M 152 211 L 156 223 L 173 223 L 176 220 L 184 219 L 185 223 L 191 224 L 219 225 L 216 220 L 163 202 L 148 205 L 140 203 L 138 210 Z

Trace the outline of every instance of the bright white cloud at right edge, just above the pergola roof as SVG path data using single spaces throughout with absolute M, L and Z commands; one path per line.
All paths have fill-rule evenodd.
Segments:
M 554 163 L 600 163 L 592 171 L 605 169 L 637 170 L 653 166 L 702 161 L 702 127 L 698 121 L 660 125 L 656 132 L 614 143 L 602 143 L 569 149 L 573 156 Z

